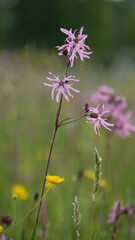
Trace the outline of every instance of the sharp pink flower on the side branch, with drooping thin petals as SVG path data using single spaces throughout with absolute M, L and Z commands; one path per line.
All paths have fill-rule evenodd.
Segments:
M 99 105 L 97 106 L 97 108 L 89 108 L 89 111 L 93 113 L 90 114 L 90 117 L 87 117 L 87 120 L 90 120 L 90 122 L 87 121 L 87 123 L 94 124 L 94 131 L 97 134 L 98 130 L 98 134 L 100 136 L 99 129 L 101 126 L 105 127 L 109 131 L 112 131 L 108 126 L 113 127 L 114 124 L 106 122 L 107 119 L 103 118 L 103 116 L 109 112 L 108 110 L 104 110 L 104 105 L 100 110 L 98 110 L 98 107 Z

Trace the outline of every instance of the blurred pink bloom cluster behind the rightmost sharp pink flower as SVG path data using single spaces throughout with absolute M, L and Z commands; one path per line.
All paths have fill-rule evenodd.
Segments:
M 122 138 L 130 137 L 130 132 L 135 131 L 135 125 L 131 124 L 132 112 L 126 110 L 126 100 L 122 96 L 117 96 L 114 89 L 106 85 L 101 86 L 92 95 L 94 104 L 104 104 L 109 110 L 109 119 L 114 123 L 113 130 Z

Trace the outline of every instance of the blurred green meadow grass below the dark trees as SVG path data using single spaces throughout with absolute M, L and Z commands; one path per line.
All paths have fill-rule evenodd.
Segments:
M 13 184 L 23 184 L 29 198 L 17 200 L 17 222 L 34 206 L 35 192 L 41 192 L 42 181 L 47 162 L 51 137 L 53 134 L 55 114 L 58 104 L 51 100 L 51 89 L 43 86 L 48 72 L 63 75 L 63 59 L 55 52 L 43 51 L 30 53 L 23 49 L 21 53 L 1 53 L 0 67 L 0 214 L 9 213 L 14 218 L 11 188 Z M 80 94 L 67 103 L 63 101 L 61 119 L 78 117 L 82 107 L 90 100 L 96 87 L 105 83 L 127 98 L 129 108 L 134 112 L 135 122 L 135 82 L 133 69 L 102 69 L 93 66 L 92 60 L 75 63 L 70 70 L 76 78 Z M 135 138 L 122 140 L 113 136 L 111 163 L 106 159 L 106 134 L 96 136 L 93 126 L 85 120 L 59 129 L 52 153 L 49 173 L 59 175 L 65 181 L 54 186 L 47 196 L 47 232 L 46 239 L 76 239 L 73 224 L 72 202 L 77 195 L 80 203 L 81 228 L 80 240 L 90 239 L 90 222 L 92 210 L 93 183 L 84 176 L 76 180 L 80 169 L 94 168 L 94 146 L 103 159 L 103 177 L 111 184 L 111 189 L 100 188 L 95 203 L 93 218 L 93 237 L 96 240 L 110 239 L 110 225 L 106 224 L 107 215 L 114 201 L 122 200 L 124 204 L 134 202 Z M 112 166 L 110 167 L 110 164 Z M 108 166 L 108 170 L 106 170 Z M 108 173 L 107 173 L 108 172 Z M 112 174 L 114 181 L 112 182 Z M 15 229 L 14 240 L 29 240 L 35 223 L 36 211 Z M 12 225 L 5 234 L 10 239 Z M 24 238 L 22 237 L 24 232 Z M 41 238 L 41 222 L 38 238 Z M 130 240 L 135 238 L 132 232 Z M 122 217 L 117 234 L 118 240 L 129 239 L 127 222 Z

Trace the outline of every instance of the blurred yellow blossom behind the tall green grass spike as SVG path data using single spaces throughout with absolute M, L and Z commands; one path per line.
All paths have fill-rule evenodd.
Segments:
M 84 176 L 89 178 L 90 180 L 95 179 L 95 173 L 92 172 L 91 170 L 88 170 L 88 169 L 84 170 Z M 110 188 L 109 183 L 103 178 L 100 179 L 99 185 L 100 185 L 100 187 L 103 187 L 103 188 L 106 188 L 106 189 Z

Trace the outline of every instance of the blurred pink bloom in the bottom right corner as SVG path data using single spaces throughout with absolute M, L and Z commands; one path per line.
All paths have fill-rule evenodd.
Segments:
M 112 212 L 108 214 L 107 223 L 114 223 L 123 214 L 135 214 L 135 205 L 123 206 L 121 201 L 114 202 Z

